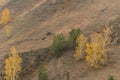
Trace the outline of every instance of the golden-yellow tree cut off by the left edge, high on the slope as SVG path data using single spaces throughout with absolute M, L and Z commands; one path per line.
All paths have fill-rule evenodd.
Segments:
M 6 24 L 10 21 L 10 10 L 5 8 L 1 13 L 0 24 Z

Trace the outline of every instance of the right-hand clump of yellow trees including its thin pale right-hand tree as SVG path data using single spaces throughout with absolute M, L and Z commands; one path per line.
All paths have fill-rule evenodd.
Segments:
M 99 68 L 107 61 L 106 46 L 110 42 L 111 30 L 106 27 L 102 33 L 94 33 L 86 44 L 86 61 L 91 67 Z

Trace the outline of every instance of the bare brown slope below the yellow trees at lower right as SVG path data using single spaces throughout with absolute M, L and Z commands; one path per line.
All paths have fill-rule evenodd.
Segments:
M 120 47 L 112 47 L 108 52 L 109 59 L 107 65 L 99 70 L 91 69 L 84 61 L 75 61 L 74 51 L 65 52 L 59 59 L 52 59 L 46 64 L 47 73 L 50 80 L 67 80 L 67 73 L 70 80 L 107 80 L 108 76 L 113 75 L 115 80 L 120 79 Z

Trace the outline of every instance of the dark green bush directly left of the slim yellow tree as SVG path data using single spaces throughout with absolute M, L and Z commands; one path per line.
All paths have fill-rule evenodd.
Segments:
M 77 43 L 76 43 L 76 39 L 77 37 L 80 35 L 81 33 L 81 30 L 79 28 L 77 29 L 72 29 L 70 32 L 69 32 L 69 35 L 68 35 L 68 40 L 67 40 L 67 43 L 68 43 L 68 46 L 69 47 L 72 47 L 72 48 L 75 48 Z

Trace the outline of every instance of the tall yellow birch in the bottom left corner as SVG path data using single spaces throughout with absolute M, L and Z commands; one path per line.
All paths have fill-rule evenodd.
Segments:
M 5 79 L 17 80 L 21 71 L 21 58 L 17 53 L 15 46 L 10 48 L 11 56 L 5 60 Z

